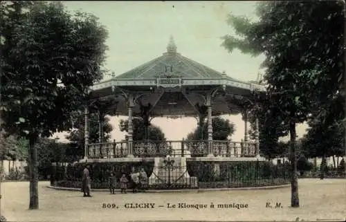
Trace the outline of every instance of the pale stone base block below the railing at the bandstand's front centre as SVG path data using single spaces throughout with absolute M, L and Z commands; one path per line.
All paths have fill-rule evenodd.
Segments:
M 171 167 L 165 166 L 165 160 L 174 161 Z M 198 187 L 197 177 L 190 176 L 186 167 L 185 157 L 154 158 L 154 170 L 149 177 L 149 185 L 173 183 L 184 187 Z

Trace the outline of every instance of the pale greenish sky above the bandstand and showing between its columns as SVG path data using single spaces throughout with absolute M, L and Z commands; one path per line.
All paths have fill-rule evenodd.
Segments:
M 170 36 L 178 53 L 237 80 L 256 80 L 264 57 L 251 57 L 239 50 L 228 53 L 221 46 L 224 35 L 235 35 L 226 19 L 229 13 L 250 19 L 255 16 L 255 1 L 62 1 L 68 10 L 90 12 L 109 31 L 105 68 L 120 75 L 165 53 Z M 106 77 L 108 78 L 108 77 Z M 122 140 L 119 120 L 112 117 L 112 140 Z M 244 138 L 244 122 L 240 115 L 224 116 L 235 123 L 233 141 Z M 194 118 L 154 118 L 168 140 L 181 140 L 197 127 Z M 174 129 L 174 130 L 172 130 Z M 176 130 L 179 129 L 179 130 Z M 299 124 L 301 137 L 307 129 Z M 66 133 L 56 133 L 66 142 Z M 286 138 L 284 138 L 286 140 Z

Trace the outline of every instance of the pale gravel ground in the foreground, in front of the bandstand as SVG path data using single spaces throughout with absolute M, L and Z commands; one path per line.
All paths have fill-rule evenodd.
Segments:
M 299 208 L 289 207 L 291 198 L 289 187 L 199 193 L 118 193 L 111 195 L 107 192 L 93 192 L 93 197 L 83 198 L 80 192 L 55 190 L 46 187 L 47 185 L 48 182 L 39 183 L 39 210 L 27 210 L 29 183 L 3 183 L 1 214 L 6 216 L 8 221 L 95 222 L 295 221 L 297 218 L 300 221 L 316 221 L 316 219 L 345 221 L 346 216 L 345 179 L 325 179 L 323 181 L 300 179 Z M 103 203 L 106 204 L 106 208 L 102 207 Z M 131 203 L 132 207 L 136 207 L 136 203 L 146 203 L 146 205 L 129 208 Z M 211 203 L 215 207 L 210 207 Z M 272 207 L 266 207 L 267 203 L 270 203 Z M 281 203 L 281 205 L 278 204 L 275 207 L 276 203 Z M 110 208 L 107 208 L 107 204 Z M 167 208 L 168 204 L 170 208 Z M 139 208 L 143 206 L 149 208 Z

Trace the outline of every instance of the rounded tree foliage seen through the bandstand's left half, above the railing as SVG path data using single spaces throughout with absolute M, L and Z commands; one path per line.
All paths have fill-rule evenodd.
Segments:
M 128 120 L 120 120 L 119 128 L 120 131 L 128 132 L 129 122 Z M 161 141 L 165 140 L 165 133 L 161 130 L 160 127 L 156 127 L 152 124 L 149 125 L 147 129 L 147 137 L 145 135 L 145 124 L 142 118 L 133 118 L 132 119 L 133 135 L 132 138 L 136 140 L 148 140 Z

